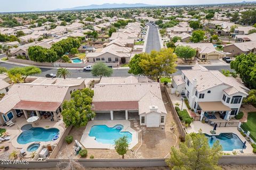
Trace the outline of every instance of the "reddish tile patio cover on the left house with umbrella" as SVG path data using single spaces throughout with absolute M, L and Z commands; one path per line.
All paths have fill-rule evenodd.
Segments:
M 28 111 L 48 111 L 56 112 L 61 103 L 42 102 L 42 101 L 19 101 L 13 109 L 21 109 Z

